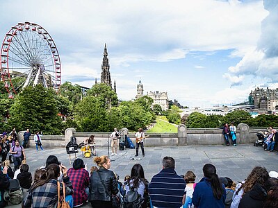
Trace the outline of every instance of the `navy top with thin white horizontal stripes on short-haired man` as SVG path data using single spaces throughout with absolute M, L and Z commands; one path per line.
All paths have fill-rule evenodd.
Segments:
M 149 196 L 155 207 L 181 207 L 186 182 L 173 168 L 164 168 L 152 177 Z

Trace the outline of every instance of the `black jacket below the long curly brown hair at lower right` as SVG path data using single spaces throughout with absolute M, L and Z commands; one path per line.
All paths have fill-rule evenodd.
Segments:
M 238 208 L 261 208 L 263 207 L 268 193 L 260 184 L 255 184 L 251 191 L 243 195 Z

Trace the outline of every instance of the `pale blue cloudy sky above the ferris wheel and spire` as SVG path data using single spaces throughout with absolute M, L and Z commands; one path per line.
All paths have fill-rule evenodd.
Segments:
M 188 107 L 247 101 L 278 87 L 278 1 L 1 1 L 0 40 L 29 21 L 53 38 L 62 83 L 100 82 L 104 44 L 117 96 L 167 92 Z

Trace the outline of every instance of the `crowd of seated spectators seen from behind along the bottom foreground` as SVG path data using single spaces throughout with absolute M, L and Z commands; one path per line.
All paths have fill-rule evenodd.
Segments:
M 6 186 L 7 180 L 17 178 L 28 192 L 22 200 L 22 207 L 57 207 L 58 183 L 62 184 L 61 196 L 65 184 L 65 201 L 70 207 L 86 205 L 112 208 L 112 195 L 117 195 L 123 202 L 124 196 L 131 190 L 138 192 L 142 208 L 161 205 L 177 208 L 278 207 L 278 173 L 268 173 L 260 166 L 255 166 L 245 180 L 236 184 L 225 175 L 219 177 L 213 164 L 205 164 L 204 177 L 197 182 L 193 171 L 188 170 L 184 178 L 177 175 L 174 159 L 165 157 L 163 169 L 154 175 L 151 182 L 145 178 L 142 164 L 134 164 L 131 174 L 120 182 L 118 175 L 110 170 L 111 160 L 108 156 L 94 157 L 94 162 L 97 166 L 92 166 L 89 173 L 82 159 L 75 159 L 72 167 L 67 169 L 55 155 L 50 155 L 45 165 L 36 169 L 32 177 L 26 162 L 21 164 L 16 175 L 12 175 L 7 160 L 0 171 L 0 191 Z M 169 190 L 165 190 L 165 187 L 174 189 L 167 193 Z M 167 198 L 167 195 L 172 196 Z

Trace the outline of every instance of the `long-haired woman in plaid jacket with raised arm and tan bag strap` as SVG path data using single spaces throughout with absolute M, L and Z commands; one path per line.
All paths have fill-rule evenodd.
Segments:
M 72 194 L 72 183 L 67 176 L 67 168 L 62 166 L 63 182 L 66 185 L 65 193 Z M 28 196 L 24 200 L 23 207 L 56 207 L 58 202 L 58 177 L 60 167 L 57 164 L 47 166 L 47 172 L 40 180 L 34 182 Z M 63 185 L 60 186 L 60 193 L 63 196 Z

